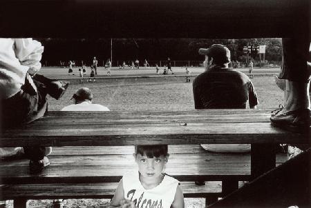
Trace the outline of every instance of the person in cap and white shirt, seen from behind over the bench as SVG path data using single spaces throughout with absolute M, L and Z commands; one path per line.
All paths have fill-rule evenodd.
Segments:
M 109 111 L 108 107 L 100 104 L 93 104 L 93 94 L 87 87 L 79 88 L 71 98 L 72 105 L 68 105 L 62 111 Z

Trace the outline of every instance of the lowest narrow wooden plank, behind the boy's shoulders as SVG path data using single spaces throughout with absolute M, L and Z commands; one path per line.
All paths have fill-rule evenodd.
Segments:
M 223 196 L 220 181 L 209 181 L 198 186 L 194 182 L 182 181 L 180 187 L 185 197 L 200 198 L 205 196 Z M 54 199 L 54 198 L 112 198 L 117 183 L 54 183 L 1 185 L 1 200 L 16 198 Z

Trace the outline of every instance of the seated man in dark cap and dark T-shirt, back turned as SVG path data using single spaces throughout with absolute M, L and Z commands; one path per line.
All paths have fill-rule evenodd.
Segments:
M 246 74 L 228 67 L 230 51 L 225 45 L 200 48 L 199 53 L 205 55 L 205 72 L 193 82 L 196 109 L 256 108 L 258 99 L 254 85 Z M 250 151 L 249 144 L 201 146 L 211 152 Z

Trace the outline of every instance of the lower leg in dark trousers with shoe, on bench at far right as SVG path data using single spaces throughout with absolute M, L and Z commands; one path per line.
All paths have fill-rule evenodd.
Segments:
M 308 37 L 282 39 L 283 66 L 279 74 L 285 79 L 285 106 L 272 114 L 273 125 L 301 131 L 310 127 L 310 74 Z

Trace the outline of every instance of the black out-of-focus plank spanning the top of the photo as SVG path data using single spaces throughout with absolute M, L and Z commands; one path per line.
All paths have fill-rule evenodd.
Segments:
M 1 37 L 289 37 L 308 32 L 309 12 L 308 0 L 3 0 Z

